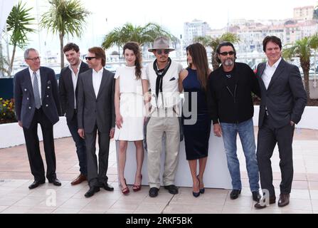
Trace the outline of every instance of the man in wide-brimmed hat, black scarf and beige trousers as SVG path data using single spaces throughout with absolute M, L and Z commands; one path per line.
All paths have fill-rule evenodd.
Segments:
M 147 123 L 148 147 L 148 177 L 149 196 L 157 197 L 160 187 L 161 139 L 165 135 L 165 162 L 163 183 L 164 188 L 171 194 L 178 194 L 174 185 L 176 165 L 178 163 L 180 129 L 179 129 L 179 73 L 180 63 L 169 58 L 169 39 L 160 36 L 154 40 L 154 45 L 148 50 L 154 53 L 156 60 L 146 67 L 146 76 L 142 78 L 144 93 L 151 88 L 151 108 Z M 147 98 L 147 96 L 145 96 Z M 146 100 L 146 102 L 149 100 Z

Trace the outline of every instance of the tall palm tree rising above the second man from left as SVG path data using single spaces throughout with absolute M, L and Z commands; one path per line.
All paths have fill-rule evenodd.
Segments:
M 41 27 L 51 28 L 60 38 L 60 67 L 64 67 L 64 36 L 82 36 L 85 18 L 90 14 L 80 0 L 48 0 L 51 7 L 41 16 Z

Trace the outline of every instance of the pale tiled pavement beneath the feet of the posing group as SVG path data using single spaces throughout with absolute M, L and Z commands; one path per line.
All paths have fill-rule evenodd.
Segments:
M 46 182 L 35 190 L 28 190 L 33 177 L 25 145 L 1 149 L 0 213 L 318 213 L 318 130 L 295 131 L 293 144 L 295 175 L 290 205 L 279 208 L 275 204 L 262 210 L 253 207 L 245 159 L 240 146 L 238 154 L 243 190 L 238 199 L 232 200 L 228 190 L 217 189 L 206 189 L 206 193 L 194 198 L 189 187 L 181 187 L 178 195 L 170 195 L 161 187 L 159 196 L 150 198 L 149 187 L 143 186 L 141 191 L 131 191 L 128 196 L 124 196 L 117 185 L 115 143 L 112 142 L 111 145 L 107 176 L 115 191 L 101 190 L 88 199 L 84 197 L 88 190 L 87 183 L 70 185 L 70 181 L 78 175 L 78 159 L 71 138 L 55 140 L 57 175 L 62 181 L 61 187 Z M 42 144 L 41 150 L 43 150 Z M 42 156 L 44 157 L 43 153 Z M 278 152 L 275 148 L 272 166 L 277 197 L 280 192 L 278 161 Z M 52 205 L 55 196 L 56 204 Z

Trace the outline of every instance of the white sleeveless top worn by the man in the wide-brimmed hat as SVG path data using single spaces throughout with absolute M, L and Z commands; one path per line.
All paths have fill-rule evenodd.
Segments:
M 149 63 L 147 66 L 149 84 L 152 89 L 152 107 L 171 108 L 174 105 L 178 105 L 181 101 L 179 93 L 179 63 L 171 61 L 171 65 L 164 75 L 162 81 L 162 93 L 159 92 L 158 99 L 156 99 L 157 74 L 154 71 L 153 66 L 153 62 Z

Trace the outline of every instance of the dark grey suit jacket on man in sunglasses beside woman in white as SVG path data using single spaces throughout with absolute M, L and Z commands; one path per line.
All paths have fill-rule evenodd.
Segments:
M 100 90 L 95 95 L 92 69 L 80 73 L 78 78 L 78 128 L 92 133 L 95 125 L 101 133 L 115 128 L 115 74 L 104 68 Z

